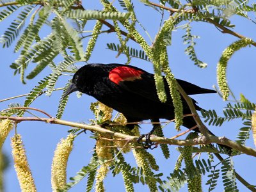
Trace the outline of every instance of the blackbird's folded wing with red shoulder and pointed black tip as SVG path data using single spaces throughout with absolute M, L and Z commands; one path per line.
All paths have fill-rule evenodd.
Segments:
M 115 67 L 110 70 L 109 79 L 124 90 L 136 93 L 142 97 L 146 97 L 147 99 L 160 102 L 157 96 L 154 75 L 141 70 L 140 68 L 126 65 Z M 177 82 L 180 84 L 180 86 L 182 86 L 188 95 L 216 93 L 214 90 L 201 88 L 200 86 L 196 86 L 195 84 L 188 83 L 187 81 L 180 79 L 177 79 Z M 172 104 L 170 90 L 168 88 L 166 79 L 164 79 L 164 87 L 167 95 L 167 104 Z

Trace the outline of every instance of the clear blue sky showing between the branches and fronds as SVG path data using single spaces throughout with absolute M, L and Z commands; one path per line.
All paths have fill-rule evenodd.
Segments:
M 147 29 L 150 36 L 154 38 L 159 27 L 161 15 L 151 8 L 143 6 L 141 3 L 134 1 L 134 5 L 136 11 L 143 9 L 143 11 L 138 12 L 138 20 L 140 20 L 143 26 Z M 96 2 L 84 3 L 84 7 L 88 10 L 101 9 L 100 4 Z M 12 19 L 14 19 L 14 17 L 12 17 Z M 1 22 L 0 34 L 3 34 L 10 21 L 11 18 Z M 253 22 L 241 19 L 240 17 L 232 17 L 232 21 L 236 24 L 234 31 L 255 40 L 256 25 L 253 24 Z M 93 24 L 94 22 L 90 21 L 85 30 L 92 30 Z M 237 38 L 228 34 L 222 34 L 213 25 L 207 23 L 193 22 L 192 27 L 193 29 L 191 33 L 193 35 L 200 36 L 200 39 L 196 40 L 196 52 L 198 58 L 207 63 L 208 67 L 204 69 L 196 67 L 193 62 L 189 60 L 188 56 L 184 54 L 186 45 L 183 45 L 181 36 L 185 34 L 185 31 L 177 29 L 177 31 L 173 31 L 172 46 L 168 47 L 170 68 L 172 68 L 172 72 L 175 77 L 179 79 L 189 81 L 204 88 L 212 88 L 212 85 L 216 85 L 216 65 L 220 59 L 221 52 L 229 44 L 237 40 Z M 45 28 L 44 31 L 42 31 L 43 36 L 48 33 L 49 28 Z M 149 42 L 147 35 L 145 33 L 143 33 L 143 35 Z M 87 40 L 87 38 L 84 40 L 84 48 L 86 47 Z M 118 42 L 115 33 L 100 36 L 89 63 L 125 63 L 125 56 L 121 55 L 116 58 L 116 52 L 106 49 L 106 44 L 111 42 Z M 130 42 L 129 45 L 138 48 L 138 45 L 134 45 L 133 42 Z M 9 49 L 0 49 L 0 56 L 0 82 L 2 82 L 0 99 L 29 93 L 40 79 L 43 79 L 43 77 L 51 73 L 49 68 L 45 68 L 45 70 L 39 76 L 35 77 L 35 79 L 27 80 L 27 84 L 22 84 L 19 76 L 13 76 L 13 70 L 9 67 L 9 65 L 18 57 L 18 54 L 13 53 L 13 46 Z M 228 83 L 237 99 L 239 99 L 239 94 L 243 93 L 245 97 L 250 99 L 252 102 L 255 101 L 255 83 L 253 83 L 253 77 L 255 76 L 255 60 L 253 56 L 255 56 L 255 47 L 246 47 L 241 51 L 236 52 L 228 63 L 227 71 Z M 56 61 L 61 61 L 61 58 L 58 58 Z M 77 63 L 77 66 L 79 67 L 83 65 L 84 63 Z M 147 61 L 132 59 L 131 65 L 135 65 L 136 67 L 143 68 L 148 72 L 152 72 L 152 64 Z M 28 72 L 34 67 L 35 63 L 31 63 L 29 65 Z M 70 77 L 61 76 L 56 87 L 63 87 L 68 79 L 70 79 Z M 61 92 L 54 92 L 51 97 L 42 95 L 36 99 L 33 104 L 31 104 L 31 107 L 42 109 L 54 116 L 58 108 L 58 100 L 60 99 L 60 96 Z M 227 102 L 223 102 L 217 94 L 195 95 L 193 98 L 198 101 L 198 105 L 200 107 L 204 109 L 215 109 L 220 115 L 222 114 L 221 111 L 223 110 L 223 107 L 227 104 Z M 25 98 L 22 97 L 15 100 L 1 102 L 0 109 L 7 108 L 10 102 L 23 104 L 24 99 Z M 90 102 L 93 101 L 95 101 L 95 99 L 88 95 L 83 95 L 80 99 L 77 99 L 76 94 L 70 95 L 67 108 L 65 109 L 65 113 L 62 118 L 64 120 L 74 122 L 88 122 L 90 118 L 93 118 L 93 114 L 89 109 Z M 164 133 L 168 138 L 177 134 L 173 125 L 174 124 L 169 124 L 168 127 L 165 127 L 164 129 Z M 142 125 L 141 127 L 141 132 L 148 132 L 150 129 L 149 125 Z M 241 127 L 241 121 L 236 120 L 234 122 L 225 122 L 222 127 L 209 127 L 209 129 L 211 129 L 211 131 L 217 136 L 226 136 L 231 140 L 236 140 L 237 132 Z M 51 161 L 54 149 L 60 139 L 67 136 L 68 129 L 70 129 L 70 127 L 45 124 L 42 122 L 22 122 L 18 124 L 17 131 L 22 135 L 22 140 L 24 141 L 28 154 L 28 161 L 35 178 L 38 191 L 51 191 Z M 183 128 L 182 130 L 184 131 L 186 128 Z M 13 136 L 13 134 L 14 131 L 10 133 L 10 136 Z M 95 141 L 92 140 L 90 136 L 91 134 L 88 132 L 87 134 L 81 134 L 76 138 L 76 141 L 74 142 L 74 150 L 72 151 L 68 161 L 68 177 L 76 175 L 76 172 L 82 166 L 86 166 L 90 161 L 90 157 L 92 157 L 92 148 L 95 144 Z M 254 147 L 252 140 L 248 140 L 246 145 Z M 8 168 L 4 178 L 6 191 L 20 191 L 19 182 L 13 168 L 10 138 L 8 138 L 4 143 L 3 150 L 10 157 L 11 161 L 11 166 Z M 156 157 L 157 163 L 160 166 L 160 172 L 165 174 L 163 177 L 163 179 L 165 179 L 166 176 L 172 172 L 175 160 L 177 159 L 177 156 L 179 156 L 179 153 L 175 150 L 175 146 L 170 147 L 170 159 L 164 159 L 163 155 L 161 155 L 160 148 L 156 148 L 150 152 L 152 152 Z M 127 159 L 129 163 L 135 165 L 132 154 L 127 154 Z M 245 177 L 251 184 L 256 184 L 255 177 L 253 177 L 255 175 L 255 169 L 250 168 L 254 165 L 253 157 L 242 155 L 234 157 L 233 159 L 236 171 L 240 173 L 242 177 Z M 216 163 L 217 162 L 218 160 L 216 159 Z M 246 168 L 244 167 L 245 164 Z M 124 191 L 124 184 L 120 175 L 113 179 L 111 174 L 109 174 L 104 184 L 107 191 Z M 241 191 L 247 190 L 241 186 L 238 180 L 237 184 Z M 83 191 L 85 186 L 86 179 L 77 184 L 77 186 L 70 191 Z M 136 191 L 148 191 L 147 186 L 141 186 L 140 184 L 136 184 L 134 186 Z M 207 191 L 207 187 L 208 186 L 204 185 L 205 191 Z M 216 191 L 220 191 L 222 189 L 223 186 L 220 182 Z M 186 188 L 182 189 L 182 191 L 186 191 Z

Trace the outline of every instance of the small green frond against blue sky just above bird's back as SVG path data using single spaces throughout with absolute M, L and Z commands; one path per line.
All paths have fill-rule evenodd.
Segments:
M 147 54 L 145 54 L 144 51 L 142 50 L 138 50 L 138 49 L 134 49 L 134 48 L 130 48 L 129 46 L 126 46 L 125 50 L 120 49 L 120 44 L 114 44 L 114 43 L 110 43 L 107 44 L 108 49 L 112 50 L 112 51 L 117 51 L 117 52 L 121 52 L 122 54 L 129 54 L 129 56 L 131 56 L 132 58 L 138 58 L 141 60 L 145 60 L 145 61 L 150 61 Z

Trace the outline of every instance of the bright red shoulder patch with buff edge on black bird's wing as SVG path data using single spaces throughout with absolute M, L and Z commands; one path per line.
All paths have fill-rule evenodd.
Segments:
M 113 68 L 109 72 L 109 79 L 115 83 L 119 84 L 120 81 L 134 81 L 136 79 L 141 79 L 141 74 L 143 74 L 141 70 L 136 70 L 135 68 L 131 67 L 116 67 Z

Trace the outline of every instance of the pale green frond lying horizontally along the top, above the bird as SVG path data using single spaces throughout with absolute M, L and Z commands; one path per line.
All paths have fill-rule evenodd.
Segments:
M 66 17 L 71 19 L 111 19 L 111 20 L 123 20 L 129 19 L 132 13 L 121 13 L 121 12 L 104 12 L 104 11 L 93 11 L 93 10 L 70 10 L 65 14 Z

